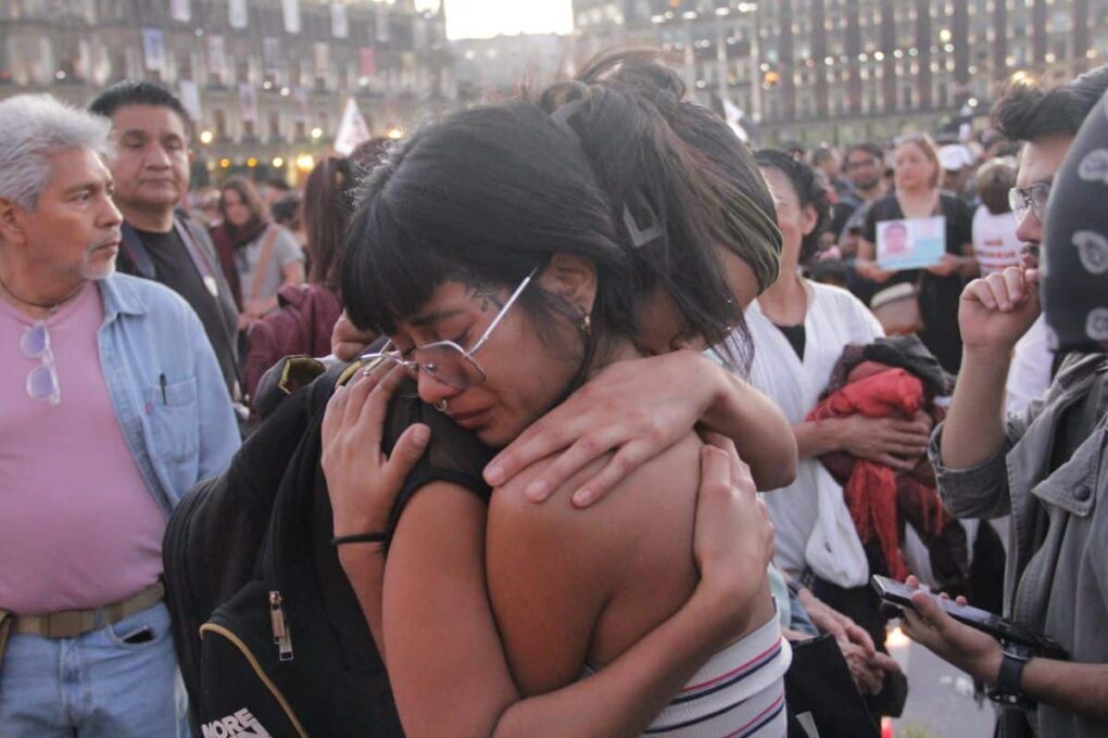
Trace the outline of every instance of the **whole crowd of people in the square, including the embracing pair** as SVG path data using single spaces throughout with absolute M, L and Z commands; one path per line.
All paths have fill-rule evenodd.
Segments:
M 302 193 L 0 102 L 0 735 L 876 736 L 892 619 L 1106 735 L 1106 91 L 752 150 L 607 52 Z

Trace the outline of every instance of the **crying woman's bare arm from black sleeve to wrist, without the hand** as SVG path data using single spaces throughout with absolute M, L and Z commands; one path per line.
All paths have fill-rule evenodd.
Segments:
M 397 528 L 384 574 L 384 645 L 407 735 L 639 735 L 725 643 L 719 613 L 728 606 L 705 590 L 596 676 L 522 699 L 485 590 L 485 516 L 468 490 L 433 482 Z M 563 682 L 565 664 L 579 667 L 587 644 L 584 619 L 574 627 Z

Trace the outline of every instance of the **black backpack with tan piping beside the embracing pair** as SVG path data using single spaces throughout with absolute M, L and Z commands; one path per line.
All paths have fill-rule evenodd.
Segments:
M 170 520 L 166 604 L 197 738 L 403 735 L 319 468 L 324 408 L 351 370 L 281 399 Z

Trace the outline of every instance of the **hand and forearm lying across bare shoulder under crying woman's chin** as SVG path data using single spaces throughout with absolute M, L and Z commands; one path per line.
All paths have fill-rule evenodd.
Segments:
M 683 350 L 606 367 L 501 451 L 485 468 L 485 480 L 504 485 L 557 454 L 527 488 L 527 497 L 542 501 L 593 460 L 615 451 L 574 492 L 574 505 L 584 507 L 698 423 L 735 441 L 759 489 L 777 489 L 796 478 L 796 441 L 777 406 L 707 356 Z

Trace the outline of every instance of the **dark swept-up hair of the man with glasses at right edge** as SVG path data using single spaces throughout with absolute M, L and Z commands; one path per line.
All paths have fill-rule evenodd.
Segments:
M 1108 64 L 1049 90 L 1020 79 L 993 105 L 993 124 L 1012 141 L 1076 136 L 1106 90 Z

